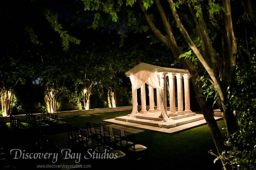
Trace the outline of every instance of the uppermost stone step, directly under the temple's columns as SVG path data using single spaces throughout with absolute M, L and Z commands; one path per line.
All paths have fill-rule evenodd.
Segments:
M 147 120 L 154 120 L 154 121 L 162 121 L 163 118 L 159 118 L 160 112 L 158 114 L 141 114 L 141 115 L 137 115 L 136 118 L 138 119 L 147 119 Z M 190 116 L 194 116 L 196 115 L 196 113 L 187 113 L 185 115 L 178 115 L 178 116 L 170 116 L 170 118 L 172 120 L 177 120 L 177 119 L 181 119 L 184 117 L 190 117 Z

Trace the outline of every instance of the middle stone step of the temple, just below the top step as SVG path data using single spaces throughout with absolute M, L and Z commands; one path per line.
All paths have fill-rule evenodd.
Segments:
M 115 117 L 115 120 L 124 121 L 124 122 L 126 122 L 126 119 L 127 119 L 127 116 Z M 176 123 L 176 126 L 180 126 L 180 125 L 183 125 L 183 124 L 196 122 L 196 121 L 199 121 L 199 120 L 202 120 L 202 119 L 204 119 L 203 115 L 192 115 L 192 116 L 188 116 L 188 117 L 184 117 L 184 118 L 174 120 L 174 122 Z M 135 118 L 135 117 L 127 119 L 127 122 L 137 123 L 137 124 L 141 124 L 141 125 L 155 126 L 155 127 L 159 127 L 158 123 L 160 123 L 160 121 L 141 119 L 141 118 L 138 119 L 138 118 Z

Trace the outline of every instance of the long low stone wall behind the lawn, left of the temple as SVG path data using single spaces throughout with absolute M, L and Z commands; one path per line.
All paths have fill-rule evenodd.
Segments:
M 91 115 L 96 113 L 118 112 L 118 111 L 125 111 L 125 110 L 132 110 L 132 106 L 63 111 L 63 112 L 55 112 L 55 114 L 58 114 L 58 117 L 68 117 L 68 116 L 78 116 L 78 115 Z M 35 115 L 41 116 L 40 113 Z M 19 118 L 20 121 L 26 121 L 26 115 L 15 115 L 15 117 Z M 7 123 L 7 122 L 10 122 L 10 116 L 0 117 L 0 123 Z

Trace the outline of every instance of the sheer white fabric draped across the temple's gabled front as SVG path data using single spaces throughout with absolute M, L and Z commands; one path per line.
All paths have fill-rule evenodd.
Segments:
M 135 66 L 130 70 L 130 79 L 132 83 L 132 106 L 133 107 L 132 107 L 132 114 L 131 116 L 128 117 L 128 119 L 134 117 L 135 115 L 138 115 L 136 114 L 136 110 L 138 107 L 137 89 L 140 88 L 144 83 L 146 83 L 152 88 L 159 89 L 160 107 L 161 107 L 162 116 L 164 118 L 163 121 L 159 123 L 159 127 L 163 127 L 163 128 L 175 127 L 176 124 L 171 118 L 168 118 L 164 110 L 163 91 L 161 89 L 161 86 L 158 84 L 156 67 L 145 64 L 145 63 L 140 63 L 139 65 Z

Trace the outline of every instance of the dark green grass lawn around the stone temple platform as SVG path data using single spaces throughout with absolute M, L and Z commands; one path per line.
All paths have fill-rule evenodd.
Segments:
M 64 117 L 68 124 L 85 128 L 85 122 L 100 123 L 104 119 L 129 114 L 131 111 L 111 112 L 94 115 Z M 225 122 L 218 121 L 225 136 Z M 210 149 L 216 152 L 208 125 L 189 129 L 178 134 L 163 134 L 146 130 L 135 134 L 136 143 L 148 147 L 147 166 L 166 169 L 222 169 L 220 161 L 213 163 L 214 157 L 208 153 Z M 172 168 L 173 167 L 173 168 Z

